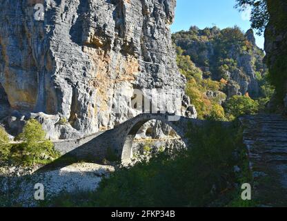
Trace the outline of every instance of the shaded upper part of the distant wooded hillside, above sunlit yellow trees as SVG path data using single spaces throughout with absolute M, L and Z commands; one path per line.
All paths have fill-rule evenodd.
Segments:
M 199 28 L 192 26 L 187 32 L 172 35 L 177 46 L 189 55 L 204 77 L 228 81 L 226 94 L 259 97 L 261 91 L 257 77 L 266 73 L 262 60 L 264 52 L 255 44 L 253 30 L 244 35 L 239 28 Z

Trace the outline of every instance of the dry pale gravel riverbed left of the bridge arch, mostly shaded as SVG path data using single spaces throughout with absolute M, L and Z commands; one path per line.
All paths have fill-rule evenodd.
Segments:
M 1 180 L 1 191 L 9 193 L 14 206 L 35 206 L 35 184 L 43 184 L 44 198 L 48 199 L 62 191 L 95 191 L 103 176 L 115 171 L 113 166 L 77 163 L 54 171 L 32 173 L 25 177 Z

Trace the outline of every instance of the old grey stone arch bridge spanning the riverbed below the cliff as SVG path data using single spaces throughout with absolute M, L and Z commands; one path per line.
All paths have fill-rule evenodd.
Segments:
M 101 162 L 108 154 L 117 155 L 122 162 L 132 157 L 132 141 L 137 132 L 146 122 L 156 119 L 171 126 L 188 146 L 185 135 L 188 124 L 205 124 L 206 121 L 190 119 L 177 115 L 143 113 L 119 124 L 108 131 L 100 132 L 77 140 L 55 142 L 55 148 L 64 156 L 68 155 L 77 160 L 93 160 Z

